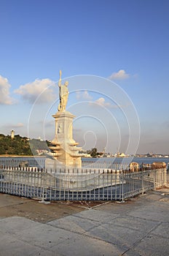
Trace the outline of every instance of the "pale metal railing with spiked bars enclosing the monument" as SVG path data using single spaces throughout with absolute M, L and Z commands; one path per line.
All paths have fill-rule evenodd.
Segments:
M 0 166 L 0 192 L 39 200 L 119 200 L 166 183 L 166 169 L 58 169 Z

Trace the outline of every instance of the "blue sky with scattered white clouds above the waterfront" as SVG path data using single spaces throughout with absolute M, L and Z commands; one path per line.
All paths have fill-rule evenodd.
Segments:
M 135 108 L 138 153 L 169 154 L 167 0 L 1 0 L 0 10 L 0 133 L 52 139 L 62 69 L 81 146 L 127 151 Z

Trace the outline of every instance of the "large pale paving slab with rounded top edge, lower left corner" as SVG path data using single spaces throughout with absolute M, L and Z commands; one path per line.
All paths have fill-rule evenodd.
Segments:
M 34 222 L 23 217 L 10 217 L 0 221 L 0 230 L 3 234 L 13 235 L 18 240 L 26 241 L 44 249 L 71 237 L 66 230 L 57 229 L 50 225 Z

